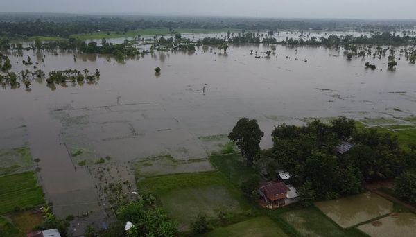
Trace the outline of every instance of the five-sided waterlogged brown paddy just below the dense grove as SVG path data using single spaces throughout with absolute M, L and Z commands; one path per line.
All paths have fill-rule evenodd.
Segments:
M 316 202 L 315 205 L 343 228 L 358 225 L 393 211 L 392 202 L 370 192 Z

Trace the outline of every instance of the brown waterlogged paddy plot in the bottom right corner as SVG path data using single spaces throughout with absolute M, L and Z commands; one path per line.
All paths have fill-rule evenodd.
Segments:
M 415 236 L 416 215 L 395 213 L 358 227 L 370 236 Z

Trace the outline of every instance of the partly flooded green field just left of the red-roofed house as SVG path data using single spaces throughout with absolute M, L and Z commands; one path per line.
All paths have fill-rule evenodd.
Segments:
M 242 193 L 219 172 L 166 175 L 143 179 L 140 189 L 155 194 L 179 229 L 186 231 L 198 213 L 217 219 L 218 213 L 243 215 L 252 209 Z

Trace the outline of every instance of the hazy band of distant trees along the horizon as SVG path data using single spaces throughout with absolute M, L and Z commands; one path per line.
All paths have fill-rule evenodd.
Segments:
M 129 30 L 148 28 L 238 28 L 245 30 L 362 30 L 392 31 L 413 28 L 415 22 L 343 21 L 324 19 L 246 19 L 223 18 L 222 20 L 200 17 L 199 19 L 177 17 L 2 17 L 0 15 L 0 36 L 58 36 L 68 37 L 78 33 L 98 31 L 125 33 Z

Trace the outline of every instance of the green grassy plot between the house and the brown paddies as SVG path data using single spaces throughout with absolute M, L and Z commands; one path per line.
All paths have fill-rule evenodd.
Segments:
M 281 214 L 302 236 L 361 236 L 356 229 L 342 229 L 315 207 L 286 211 Z

